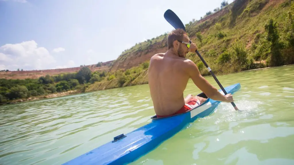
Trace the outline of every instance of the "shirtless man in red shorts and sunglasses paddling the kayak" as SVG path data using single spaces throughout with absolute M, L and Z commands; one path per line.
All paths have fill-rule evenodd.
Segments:
M 189 43 L 189 37 L 183 29 L 168 34 L 168 50 L 151 57 L 148 69 L 148 84 L 157 117 L 167 117 L 187 112 L 199 106 L 206 99 L 188 95 L 183 97 L 189 78 L 207 97 L 223 102 L 232 102 L 231 94 L 222 95 L 203 78 L 186 54 L 195 52 L 195 43 Z

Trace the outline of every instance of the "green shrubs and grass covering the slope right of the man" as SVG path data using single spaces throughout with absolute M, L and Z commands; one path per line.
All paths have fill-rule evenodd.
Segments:
M 215 74 L 294 63 L 294 2 L 268 2 L 237 0 L 222 7 L 223 15 L 186 26 Z M 187 58 L 201 62 L 195 53 Z M 206 69 L 201 74 L 209 75 Z

